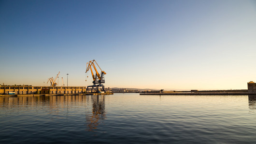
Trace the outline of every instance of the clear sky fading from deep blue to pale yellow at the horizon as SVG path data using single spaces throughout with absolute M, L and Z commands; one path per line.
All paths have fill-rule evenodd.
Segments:
M 0 0 L 0 84 L 92 85 L 90 60 L 105 87 L 247 89 L 256 0 Z

